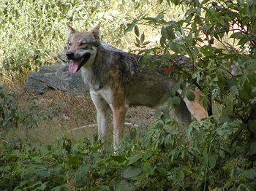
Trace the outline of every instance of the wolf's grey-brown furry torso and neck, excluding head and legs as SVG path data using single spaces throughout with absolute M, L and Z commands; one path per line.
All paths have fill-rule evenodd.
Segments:
M 85 82 L 94 90 L 111 87 L 114 82 L 110 79 L 110 70 L 118 72 L 118 77 L 124 85 L 127 104 L 157 107 L 170 96 L 173 79 L 165 76 L 160 70 L 151 70 L 139 63 L 141 55 L 113 51 L 98 47 L 97 56 L 91 65 L 93 75 Z M 152 56 L 153 59 L 157 57 Z

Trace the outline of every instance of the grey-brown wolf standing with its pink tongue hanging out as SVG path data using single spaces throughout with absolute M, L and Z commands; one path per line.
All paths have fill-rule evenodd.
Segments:
M 113 148 L 120 146 L 128 106 L 157 108 L 165 104 L 177 80 L 167 77 L 160 69 L 142 66 L 142 55 L 116 49 L 99 38 L 99 25 L 91 31 L 76 31 L 67 24 L 67 58 L 71 61 L 69 72 L 81 70 L 83 81 L 89 87 L 91 99 L 97 110 L 98 137 L 102 141 L 113 113 Z M 156 60 L 157 56 L 151 56 Z M 181 125 L 189 125 L 191 114 L 200 121 L 207 112 L 198 101 L 184 98 L 174 106 Z

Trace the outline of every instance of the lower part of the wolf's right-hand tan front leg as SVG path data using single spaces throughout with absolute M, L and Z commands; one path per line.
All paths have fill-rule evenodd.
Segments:
M 116 151 L 120 146 L 120 141 L 123 138 L 124 120 L 127 108 L 118 106 L 113 109 L 113 147 Z

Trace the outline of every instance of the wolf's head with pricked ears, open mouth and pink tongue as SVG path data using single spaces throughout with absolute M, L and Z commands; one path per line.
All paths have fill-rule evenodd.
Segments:
M 71 60 L 69 72 L 74 74 L 82 66 L 89 66 L 94 63 L 99 46 L 99 25 L 89 32 L 78 32 L 67 24 L 69 31 L 67 58 Z

